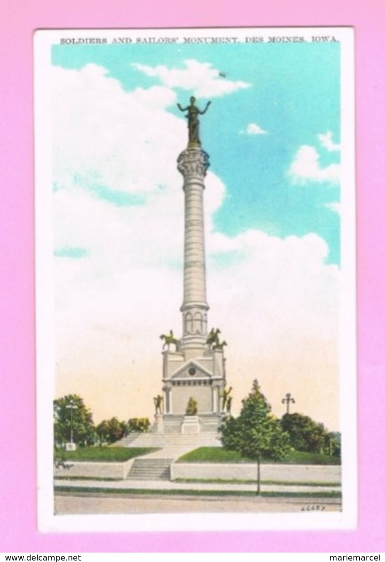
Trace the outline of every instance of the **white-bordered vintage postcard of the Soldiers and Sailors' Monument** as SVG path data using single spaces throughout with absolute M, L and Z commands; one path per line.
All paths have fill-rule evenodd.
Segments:
M 35 33 L 40 529 L 355 527 L 353 41 Z

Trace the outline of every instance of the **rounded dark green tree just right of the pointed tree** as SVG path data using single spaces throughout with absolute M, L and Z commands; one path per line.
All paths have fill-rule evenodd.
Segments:
M 285 414 L 282 416 L 281 425 L 289 434 L 290 445 L 296 451 L 324 451 L 328 432 L 322 423 L 302 414 Z

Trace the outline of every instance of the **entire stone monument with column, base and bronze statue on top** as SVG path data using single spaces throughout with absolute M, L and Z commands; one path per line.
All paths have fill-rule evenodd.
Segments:
M 177 159 L 185 192 L 182 337 L 176 339 L 172 330 L 169 336 L 161 336 L 165 342 L 163 407 L 162 413 L 157 410 L 154 425 L 159 433 L 216 431 L 225 409 L 226 342 L 219 341 L 219 329 L 210 333 L 207 329 L 203 192 L 209 155 L 201 148 L 198 115 L 203 115 L 209 105 L 210 102 L 203 111 L 199 110 L 194 97 L 190 98 L 190 106 L 182 108 L 178 104 L 181 111 L 187 111 L 189 128 L 189 143 Z M 194 411 L 191 404 L 195 405 Z

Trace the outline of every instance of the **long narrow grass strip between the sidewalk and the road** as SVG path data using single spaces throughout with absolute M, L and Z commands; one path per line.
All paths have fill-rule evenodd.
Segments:
M 148 490 L 148 488 L 90 488 L 75 486 L 55 486 L 55 492 L 65 493 L 92 493 L 92 494 L 117 494 L 117 495 L 145 495 L 145 496 L 256 496 L 253 491 L 236 490 Z M 314 498 L 338 498 L 341 492 L 261 492 L 262 497 L 314 497 Z

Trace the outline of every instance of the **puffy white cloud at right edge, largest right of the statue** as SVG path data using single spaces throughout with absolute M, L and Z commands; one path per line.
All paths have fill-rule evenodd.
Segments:
M 339 184 L 340 164 L 321 167 L 317 149 L 304 144 L 298 149 L 288 170 L 288 175 L 295 184 L 304 185 L 308 182 Z

